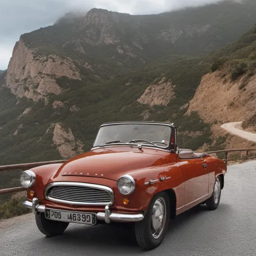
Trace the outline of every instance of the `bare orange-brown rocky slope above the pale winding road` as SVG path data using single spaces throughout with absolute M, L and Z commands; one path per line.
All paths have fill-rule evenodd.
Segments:
M 203 76 L 187 113 L 198 112 L 206 123 L 247 122 L 256 113 L 256 75 L 232 81 L 226 69 Z

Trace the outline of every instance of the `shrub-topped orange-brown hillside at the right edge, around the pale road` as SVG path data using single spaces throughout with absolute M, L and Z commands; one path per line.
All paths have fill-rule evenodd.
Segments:
M 256 25 L 237 43 L 212 53 L 212 71 L 203 76 L 187 114 L 197 112 L 212 125 L 216 138 L 225 132 L 221 123 L 243 122 L 242 127 L 256 132 Z M 204 107 L 202 107 L 204 102 Z M 232 141 L 233 140 L 233 141 Z M 254 147 L 237 137 L 228 140 L 236 147 Z

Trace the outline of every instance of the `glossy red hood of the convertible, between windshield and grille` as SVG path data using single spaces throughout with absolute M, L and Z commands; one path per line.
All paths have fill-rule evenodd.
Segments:
M 167 152 L 135 147 L 110 147 L 81 154 L 64 163 L 51 178 L 67 180 L 66 176 L 98 177 L 118 180 L 120 176 L 138 169 L 166 164 Z M 86 182 L 83 179 L 83 182 Z

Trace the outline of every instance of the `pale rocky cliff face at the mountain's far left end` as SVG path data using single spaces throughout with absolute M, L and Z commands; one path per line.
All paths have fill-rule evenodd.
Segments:
M 22 40 L 17 42 L 12 54 L 5 86 L 17 98 L 26 97 L 37 102 L 49 94 L 58 95 L 64 90 L 56 84 L 58 77 L 80 79 L 79 71 L 69 58 L 57 55 L 37 56 Z

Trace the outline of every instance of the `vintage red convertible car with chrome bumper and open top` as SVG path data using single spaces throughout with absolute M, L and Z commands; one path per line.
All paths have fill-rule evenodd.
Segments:
M 44 235 L 69 223 L 132 223 L 138 244 L 151 250 L 170 218 L 202 203 L 218 207 L 225 173 L 222 160 L 179 149 L 173 124 L 120 122 L 100 126 L 91 151 L 24 171 L 20 181 Z

